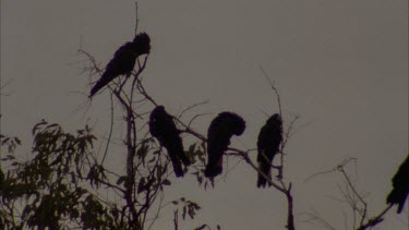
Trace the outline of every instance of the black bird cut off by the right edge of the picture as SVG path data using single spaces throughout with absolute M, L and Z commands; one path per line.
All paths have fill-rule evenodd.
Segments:
M 400 214 L 409 193 L 409 155 L 392 179 L 392 184 L 394 189 L 387 196 L 386 203 L 393 205 L 397 204 L 397 213 Z

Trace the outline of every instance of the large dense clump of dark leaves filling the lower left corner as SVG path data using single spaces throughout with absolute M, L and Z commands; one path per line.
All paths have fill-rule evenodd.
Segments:
M 41 121 L 34 126 L 33 135 L 34 157 L 23 162 L 13 155 L 21 142 L 1 136 L 1 148 L 9 149 L 1 159 L 8 166 L 7 173 L 0 173 L 2 226 L 61 229 L 81 222 L 84 228 L 113 228 L 115 211 L 87 185 L 104 178 L 104 170 L 98 174 L 92 170 L 96 166 L 89 157 L 95 136 L 89 129 L 73 135 L 58 124 Z

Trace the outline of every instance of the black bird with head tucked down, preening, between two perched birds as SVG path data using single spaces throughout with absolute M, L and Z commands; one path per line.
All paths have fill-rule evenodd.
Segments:
M 232 135 L 240 136 L 245 129 L 245 121 L 232 112 L 221 112 L 213 119 L 207 130 L 207 166 L 205 175 L 214 178 L 222 171 L 222 154 L 230 145 Z

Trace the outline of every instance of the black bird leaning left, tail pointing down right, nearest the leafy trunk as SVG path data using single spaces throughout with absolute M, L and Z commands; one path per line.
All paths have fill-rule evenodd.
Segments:
M 172 117 L 165 111 L 163 106 L 156 107 L 151 112 L 149 131 L 167 149 L 175 174 L 178 178 L 183 177 L 181 161 L 184 166 L 189 166 L 191 162 L 184 155 L 182 138 L 179 136 L 180 131 L 176 128 Z

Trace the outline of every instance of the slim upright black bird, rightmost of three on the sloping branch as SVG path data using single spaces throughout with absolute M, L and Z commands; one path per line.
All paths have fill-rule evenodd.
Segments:
M 257 161 L 258 169 L 269 179 L 272 179 L 272 161 L 279 150 L 282 141 L 282 121 L 276 113 L 268 118 L 266 124 L 262 128 L 257 138 Z M 257 187 L 265 187 L 267 180 L 258 173 Z M 270 186 L 272 184 L 268 183 Z

